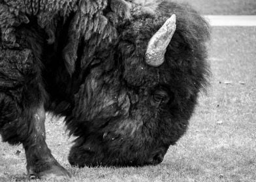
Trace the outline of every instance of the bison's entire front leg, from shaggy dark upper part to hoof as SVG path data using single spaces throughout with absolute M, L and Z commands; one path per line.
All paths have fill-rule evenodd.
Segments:
M 68 177 L 45 142 L 47 95 L 40 75 L 40 60 L 30 49 L 0 49 L 0 135 L 23 144 L 29 177 Z

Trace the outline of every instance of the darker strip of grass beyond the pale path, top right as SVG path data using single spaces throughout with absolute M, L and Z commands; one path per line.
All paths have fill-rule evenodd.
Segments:
M 256 15 L 255 0 L 174 0 L 194 6 L 202 14 Z

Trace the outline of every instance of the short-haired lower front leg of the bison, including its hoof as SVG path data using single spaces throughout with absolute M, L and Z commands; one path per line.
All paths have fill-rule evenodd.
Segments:
M 40 105 L 31 118 L 30 127 L 33 135 L 28 136 L 29 140 L 23 144 L 27 158 L 27 174 L 31 179 L 70 177 L 69 172 L 54 159 L 45 142 L 44 120 L 44 107 Z

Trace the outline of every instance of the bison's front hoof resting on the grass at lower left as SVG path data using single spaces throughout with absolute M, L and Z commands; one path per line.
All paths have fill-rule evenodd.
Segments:
M 62 180 L 71 177 L 71 174 L 63 168 L 60 164 L 54 164 L 50 166 L 48 170 L 42 172 L 35 172 L 34 170 L 29 170 L 29 179 L 57 179 Z

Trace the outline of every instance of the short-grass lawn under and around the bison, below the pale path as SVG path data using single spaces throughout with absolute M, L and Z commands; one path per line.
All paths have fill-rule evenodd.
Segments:
M 256 27 L 212 28 L 211 86 L 201 94 L 186 135 L 157 166 L 72 168 L 67 155 L 73 138 L 61 119 L 48 116 L 47 143 L 71 172 L 67 181 L 256 181 L 255 32 Z M 0 142 L 0 161 L 0 181 L 27 181 L 21 146 Z

